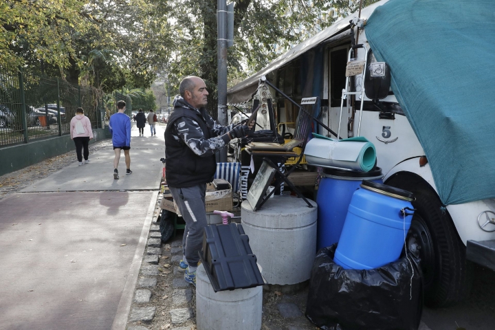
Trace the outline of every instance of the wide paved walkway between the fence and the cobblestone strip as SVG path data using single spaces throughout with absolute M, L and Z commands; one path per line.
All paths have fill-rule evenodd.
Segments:
M 132 175 L 113 149 L 0 201 L 0 329 L 125 325 L 155 210 L 164 126 L 133 127 Z M 75 153 L 75 151 L 74 151 Z M 115 327 L 124 329 L 124 327 Z

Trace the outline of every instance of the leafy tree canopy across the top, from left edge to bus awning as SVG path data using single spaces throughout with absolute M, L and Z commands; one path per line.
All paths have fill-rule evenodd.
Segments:
M 228 49 L 232 82 L 357 10 L 359 3 L 234 2 L 234 46 Z M 157 73 L 175 91 L 181 78 L 196 75 L 206 81 L 209 110 L 216 116 L 216 12 L 217 0 L 3 0 L 0 65 L 27 67 L 107 93 L 147 88 Z

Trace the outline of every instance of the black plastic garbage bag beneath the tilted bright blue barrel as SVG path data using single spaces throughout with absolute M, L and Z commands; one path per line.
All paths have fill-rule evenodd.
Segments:
M 374 270 L 344 270 L 333 262 L 337 243 L 311 269 L 306 317 L 325 330 L 412 330 L 423 311 L 419 267 L 401 258 Z

